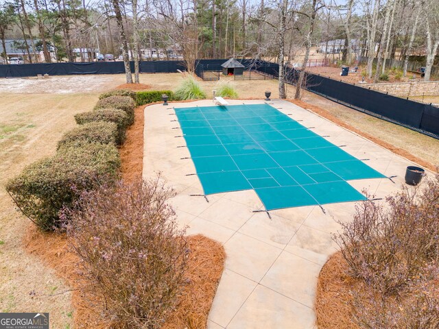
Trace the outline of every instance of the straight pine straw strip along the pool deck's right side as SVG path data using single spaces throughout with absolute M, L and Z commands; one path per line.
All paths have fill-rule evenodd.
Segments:
M 415 162 L 417 164 L 420 164 L 421 167 L 425 167 L 431 171 L 436 172 L 436 166 L 431 164 L 430 162 L 427 162 L 425 160 L 422 160 L 418 158 L 417 156 L 414 156 L 413 154 L 410 154 L 409 152 L 405 151 L 405 149 L 401 149 L 399 147 L 394 147 L 392 144 L 381 141 L 381 139 L 372 136 L 366 132 L 363 132 L 352 125 L 349 125 L 348 123 L 345 123 L 344 121 L 337 119 L 337 117 L 334 117 L 333 114 L 329 113 L 327 110 L 324 110 L 318 106 L 311 105 L 310 103 L 306 103 L 305 101 L 300 101 L 298 99 L 287 99 L 287 101 L 290 101 L 301 108 L 305 108 L 306 110 L 310 110 L 311 112 L 314 112 L 320 117 L 324 117 L 325 119 L 328 119 L 329 121 L 332 121 L 336 125 L 340 125 L 340 127 L 344 127 L 347 130 L 351 130 L 351 132 L 355 132 L 355 134 L 359 136 L 363 136 L 364 138 L 367 138 L 369 141 L 372 141 L 373 143 L 380 145 L 384 147 L 385 149 L 388 149 L 392 151 L 393 153 L 398 154 L 399 156 L 403 156 L 403 158 L 406 158 L 407 160 L 410 160 L 412 162 Z

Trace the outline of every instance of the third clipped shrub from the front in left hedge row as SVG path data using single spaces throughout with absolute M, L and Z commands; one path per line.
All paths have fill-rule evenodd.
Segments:
M 125 141 L 125 132 L 128 127 L 128 119 L 126 112 L 122 110 L 102 109 L 93 112 L 83 112 L 75 115 L 75 120 L 78 125 L 91 123 L 95 121 L 105 121 L 116 123 L 117 138 L 116 143 L 121 145 Z

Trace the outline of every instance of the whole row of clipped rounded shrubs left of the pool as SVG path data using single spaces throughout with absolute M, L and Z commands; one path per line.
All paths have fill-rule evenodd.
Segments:
M 84 191 L 119 178 L 116 145 L 134 123 L 134 96 L 130 90 L 101 95 L 95 110 L 75 115 L 80 126 L 64 134 L 55 156 L 30 164 L 7 183 L 16 205 L 38 228 L 60 228 L 63 208 L 72 208 Z

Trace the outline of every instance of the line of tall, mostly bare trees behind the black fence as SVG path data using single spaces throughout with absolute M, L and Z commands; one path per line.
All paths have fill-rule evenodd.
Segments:
M 424 55 L 429 80 L 439 46 L 436 1 L 1 0 L 0 38 L 3 52 L 6 38 L 23 40 L 17 47 L 29 62 L 38 62 L 40 51 L 45 62 L 73 62 L 74 49 L 83 61 L 93 57 L 82 53 L 90 49 L 121 55 L 128 69 L 129 59 L 152 59 L 154 51 L 169 58 L 168 49 L 184 58 L 189 71 L 197 58 L 268 59 L 281 64 L 282 97 L 284 65 L 305 68 L 311 47 L 326 42 L 327 53 L 331 40 L 343 40 L 344 64 L 367 58 L 367 75 L 375 80 L 390 59 L 403 60 L 407 75 L 410 55 Z

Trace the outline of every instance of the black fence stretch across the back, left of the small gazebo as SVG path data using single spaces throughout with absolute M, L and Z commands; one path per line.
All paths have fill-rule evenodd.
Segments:
M 134 72 L 134 62 L 130 62 Z M 185 63 L 180 60 L 140 62 L 141 73 L 172 73 L 184 71 Z M 38 63 L 22 65 L 0 65 L 0 77 L 32 77 L 36 75 L 76 75 L 76 74 L 119 74 L 125 73 L 123 62 L 85 63 Z

